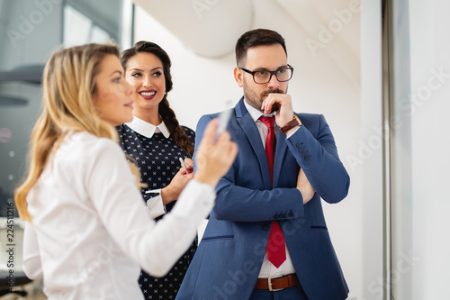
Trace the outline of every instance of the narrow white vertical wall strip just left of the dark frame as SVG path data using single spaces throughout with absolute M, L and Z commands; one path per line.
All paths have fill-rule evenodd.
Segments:
M 383 53 L 381 0 L 361 1 L 361 132 L 352 158 L 363 191 L 363 286 L 365 300 L 387 299 L 383 277 Z

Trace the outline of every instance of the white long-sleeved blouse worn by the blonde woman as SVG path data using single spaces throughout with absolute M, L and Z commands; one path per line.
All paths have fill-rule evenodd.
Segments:
M 162 277 L 211 212 L 211 186 L 195 180 L 170 214 L 148 217 L 135 178 L 114 141 L 67 135 L 28 195 L 33 217 L 23 238 L 23 268 L 44 279 L 52 299 L 143 299 L 139 266 Z

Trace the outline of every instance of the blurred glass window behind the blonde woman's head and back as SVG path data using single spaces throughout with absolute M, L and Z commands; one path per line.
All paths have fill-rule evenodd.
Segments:
M 61 44 L 121 44 L 122 6 L 123 0 L 0 0 L 0 217 L 25 173 L 46 60 Z

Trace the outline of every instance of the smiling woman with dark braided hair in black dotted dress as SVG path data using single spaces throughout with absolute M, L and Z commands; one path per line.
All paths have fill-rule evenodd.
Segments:
M 135 159 L 141 192 L 156 220 L 170 211 L 184 186 L 193 178 L 194 132 L 180 126 L 167 101 L 172 90 L 171 61 L 165 50 L 149 41 L 139 41 L 121 54 L 125 78 L 133 86 L 133 120 L 118 127 L 121 147 Z M 187 169 L 180 168 L 183 159 Z M 164 278 L 142 271 L 139 286 L 147 299 L 175 299 L 184 274 L 197 249 L 193 241 L 189 250 Z

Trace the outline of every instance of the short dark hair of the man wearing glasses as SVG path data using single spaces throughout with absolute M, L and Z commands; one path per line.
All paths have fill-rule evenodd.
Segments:
M 286 44 L 280 33 L 261 28 L 245 32 L 236 42 L 235 52 L 238 67 L 243 67 L 245 59 L 247 58 L 248 48 L 264 45 L 271 46 L 275 44 L 282 45 L 287 56 Z

